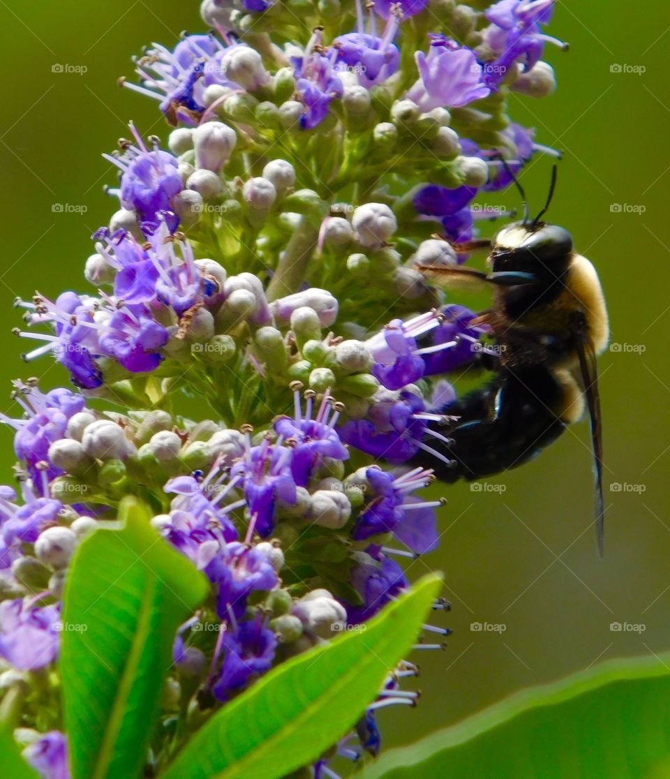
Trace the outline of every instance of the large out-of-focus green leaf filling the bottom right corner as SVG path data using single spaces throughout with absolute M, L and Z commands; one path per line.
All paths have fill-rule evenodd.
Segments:
M 670 654 L 600 664 L 393 749 L 365 779 L 670 776 Z

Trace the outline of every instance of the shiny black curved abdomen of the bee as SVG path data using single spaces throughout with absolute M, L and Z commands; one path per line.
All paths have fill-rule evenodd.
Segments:
M 443 433 L 449 442 L 427 432 L 423 442 L 439 456 L 421 449 L 410 464 L 433 468 L 441 481 L 473 481 L 526 463 L 565 430 L 566 423 L 552 411 L 564 390 L 544 365 L 506 370 L 496 389 L 494 382 L 441 409 L 460 416 Z

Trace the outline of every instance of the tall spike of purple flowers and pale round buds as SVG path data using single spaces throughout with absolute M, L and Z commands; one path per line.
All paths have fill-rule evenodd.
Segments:
M 552 93 L 545 44 L 566 48 L 544 32 L 553 0 L 473 5 L 204 0 L 214 32 L 136 58 L 121 83 L 157 100 L 167 143 L 131 124 L 104 155 L 118 209 L 93 234 L 93 288 L 16 301 L 24 358 L 51 354 L 76 391 L 16 382 L 2 417 L 2 688 L 55 662 L 69 561 L 124 495 L 161 507 L 153 526 L 210 582 L 175 636 L 166 718 L 365 622 L 436 548 L 443 499 L 407 461 L 446 460 L 444 375 L 490 350 L 417 266 L 466 261 L 492 217 L 478 193 L 555 154 L 507 97 Z M 375 712 L 413 705 L 415 674 L 393 671 L 314 777 L 379 751 Z M 58 719 L 23 725 L 26 759 L 66 777 Z

